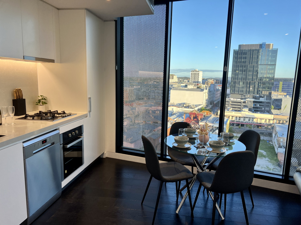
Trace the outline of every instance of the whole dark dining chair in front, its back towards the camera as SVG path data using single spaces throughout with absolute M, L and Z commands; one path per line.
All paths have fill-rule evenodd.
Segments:
M 230 194 L 240 192 L 246 223 L 249 224 L 243 191 L 250 187 L 253 182 L 254 161 L 254 153 L 251 151 L 232 152 L 222 158 L 216 171 L 198 173 L 197 180 L 200 182 L 200 185 L 194 200 L 193 209 L 202 185 L 206 190 L 214 192 L 211 221 L 211 224 L 214 225 L 217 193 Z

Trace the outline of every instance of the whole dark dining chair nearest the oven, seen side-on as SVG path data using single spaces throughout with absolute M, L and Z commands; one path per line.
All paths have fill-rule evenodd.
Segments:
M 193 174 L 185 166 L 177 162 L 159 163 L 157 152 L 155 151 L 155 148 L 151 143 L 151 141 L 147 137 L 142 135 L 142 142 L 144 146 L 146 167 L 148 172 L 150 172 L 151 177 L 147 183 L 147 187 L 144 192 L 141 205 L 143 204 L 144 198 L 146 196 L 148 187 L 151 184 L 152 178 L 154 177 L 155 179 L 160 181 L 160 187 L 157 195 L 157 201 L 156 201 L 152 224 L 154 224 L 155 221 L 163 182 L 176 182 L 176 186 L 177 186 L 177 182 L 181 182 L 183 180 L 186 181 L 190 209 L 191 209 L 191 217 L 193 217 L 190 188 L 188 184 L 188 179 L 192 178 Z M 178 199 L 178 193 L 177 193 L 177 199 Z

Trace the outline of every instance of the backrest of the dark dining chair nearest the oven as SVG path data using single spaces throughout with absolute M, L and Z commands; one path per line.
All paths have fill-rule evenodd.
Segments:
M 151 141 L 142 135 L 142 142 L 145 153 L 145 162 L 148 172 L 157 180 L 162 180 L 162 174 L 160 171 L 159 159 L 157 152 Z

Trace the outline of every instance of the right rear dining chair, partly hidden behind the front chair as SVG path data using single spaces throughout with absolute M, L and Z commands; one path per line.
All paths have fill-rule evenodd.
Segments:
M 256 131 L 246 130 L 240 135 L 240 137 L 238 138 L 238 141 L 240 141 L 241 143 L 243 143 L 246 146 L 246 151 L 251 151 L 254 153 L 254 156 L 255 156 L 254 167 L 255 167 L 256 161 L 257 161 L 258 150 L 259 150 L 259 144 L 260 144 L 260 135 Z M 221 160 L 222 160 L 222 158 L 219 158 L 216 162 L 214 162 L 209 167 L 209 170 L 216 170 Z M 248 187 L 248 190 L 250 193 L 252 205 L 254 207 L 251 186 Z M 225 194 L 225 199 L 224 199 L 225 209 L 226 209 L 226 199 L 227 199 L 227 195 Z M 222 202 L 222 195 L 220 196 L 220 203 L 219 203 L 220 206 L 221 206 L 221 202 Z

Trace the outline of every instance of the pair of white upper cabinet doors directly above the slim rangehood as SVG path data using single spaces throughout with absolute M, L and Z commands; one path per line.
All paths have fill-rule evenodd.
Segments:
M 54 59 L 52 8 L 44 1 L 21 1 L 24 56 Z

